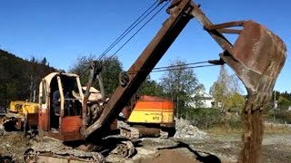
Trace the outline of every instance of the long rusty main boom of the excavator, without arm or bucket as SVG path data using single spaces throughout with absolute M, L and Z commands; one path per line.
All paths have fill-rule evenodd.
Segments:
M 170 17 L 163 24 L 163 27 L 156 34 L 156 37 L 149 43 L 143 53 L 129 68 L 128 74 L 124 74 L 122 81 L 126 83 L 119 86 L 107 102 L 100 118 L 93 125 L 85 129 L 85 135 L 89 136 L 97 129 L 110 124 L 124 108 L 139 86 L 146 80 L 146 76 L 156 66 L 156 63 L 166 53 L 166 50 L 175 41 L 176 37 L 193 16 L 189 11 L 193 8 L 191 1 L 182 1 L 173 8 L 168 9 Z

